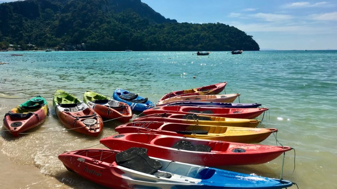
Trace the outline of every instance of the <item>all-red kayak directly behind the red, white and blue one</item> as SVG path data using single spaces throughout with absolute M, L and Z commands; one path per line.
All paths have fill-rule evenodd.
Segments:
M 148 155 L 203 166 L 261 164 L 292 148 L 192 139 L 147 133 L 125 133 L 99 141 L 110 149 L 147 148 Z

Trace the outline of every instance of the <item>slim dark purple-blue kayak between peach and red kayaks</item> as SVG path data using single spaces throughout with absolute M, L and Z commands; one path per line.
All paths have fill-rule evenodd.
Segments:
M 216 108 L 258 108 L 262 104 L 247 104 L 247 103 L 221 103 L 221 102 L 173 102 L 166 106 L 202 106 Z

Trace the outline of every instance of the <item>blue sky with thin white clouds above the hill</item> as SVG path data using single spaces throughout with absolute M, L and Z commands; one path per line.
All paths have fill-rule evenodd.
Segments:
M 9 2 L 11 0 L 0 0 Z M 13 0 L 12 0 L 13 1 Z M 234 26 L 261 49 L 337 49 L 337 0 L 142 0 L 179 23 Z

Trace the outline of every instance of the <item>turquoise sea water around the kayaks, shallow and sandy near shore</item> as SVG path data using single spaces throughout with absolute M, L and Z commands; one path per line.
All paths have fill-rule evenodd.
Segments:
M 211 52 L 209 56 L 192 53 L 0 52 L 0 61 L 10 63 L 0 65 L 0 97 L 52 97 L 58 88 L 112 96 L 116 88 L 124 88 L 157 102 L 172 90 L 226 81 L 222 93 L 241 93 L 240 102 L 269 107 L 263 123 L 278 128 L 279 142 L 296 149 L 295 172 L 292 174 L 294 151 L 290 151 L 285 156 L 283 179 L 298 183 L 300 188 L 337 188 L 337 51 L 244 51 L 241 55 Z M 76 95 L 82 99 L 83 93 Z M 23 101 L 0 99 L 1 115 Z M 51 102 L 48 98 L 53 110 Z M 101 137 L 114 134 L 119 124 L 105 124 Z M 52 116 L 32 132 L 63 128 L 52 111 Z M 73 131 L 30 134 L 15 140 L 4 132 L 1 136 L 2 151 L 16 163 L 36 165 L 41 173 L 69 187 L 99 188 L 66 172 L 57 159 L 64 150 L 98 144 L 99 138 Z M 275 138 L 271 136 L 261 144 L 275 145 Z M 281 166 L 279 157 L 262 165 L 225 168 L 279 178 Z

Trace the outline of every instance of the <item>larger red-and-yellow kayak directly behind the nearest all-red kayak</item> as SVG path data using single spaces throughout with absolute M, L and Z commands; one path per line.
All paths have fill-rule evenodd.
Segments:
M 259 143 L 268 138 L 270 134 L 276 133 L 277 129 L 141 121 L 119 125 L 115 128 L 115 131 L 119 134 L 151 133 L 227 142 Z

